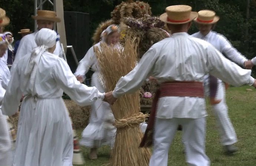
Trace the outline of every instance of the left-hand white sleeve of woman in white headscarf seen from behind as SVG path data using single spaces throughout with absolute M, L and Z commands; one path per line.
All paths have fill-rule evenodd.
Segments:
M 14 115 L 17 112 L 22 97 L 18 67 L 14 70 L 14 75 L 10 79 L 3 98 L 2 112 L 8 116 Z

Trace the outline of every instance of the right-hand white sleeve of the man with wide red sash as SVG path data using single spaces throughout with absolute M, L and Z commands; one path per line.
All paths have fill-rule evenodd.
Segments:
M 234 86 L 254 83 L 251 70 L 242 69 L 236 63 L 231 62 L 211 44 L 207 47 L 207 65 L 209 65 L 211 75 Z

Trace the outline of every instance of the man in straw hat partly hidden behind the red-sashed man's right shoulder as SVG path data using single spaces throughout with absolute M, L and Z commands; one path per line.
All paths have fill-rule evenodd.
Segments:
M 191 36 L 209 42 L 221 53 L 225 53 L 225 55 L 233 62 L 236 62 L 241 66 L 246 65 L 247 58 L 238 52 L 226 37 L 212 31 L 219 21 L 219 17 L 215 15 L 214 11 L 201 10 L 198 12 L 198 17 L 194 21 L 199 28 L 199 32 Z M 212 84 L 216 84 L 216 87 Z M 217 101 L 212 104 L 220 130 L 221 143 L 226 152 L 234 153 L 237 151 L 236 146 L 233 145 L 237 142 L 237 136 L 228 115 L 228 107 L 225 100 L 226 88 L 220 79 L 210 75 L 206 75 L 204 85 L 206 94 Z

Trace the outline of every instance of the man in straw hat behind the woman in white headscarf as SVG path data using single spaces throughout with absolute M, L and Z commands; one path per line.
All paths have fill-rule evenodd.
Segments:
M 49 11 L 49 10 L 37 10 L 37 15 L 36 16 L 32 15 L 32 18 L 37 21 L 37 30 L 40 30 L 42 28 L 49 28 L 52 30 L 53 25 L 61 21 L 60 18 L 56 16 L 55 11 Z M 35 42 L 36 32 L 26 35 L 21 39 L 19 48 L 17 49 L 15 60 L 10 70 L 11 77 L 13 76 L 14 69 L 17 63 L 19 63 L 19 60 L 23 56 L 25 56 L 27 53 L 32 52 L 33 48 L 37 46 Z M 53 52 L 53 54 L 63 58 L 63 53 L 62 53 L 62 49 L 60 47 L 59 41 L 56 44 L 56 49 Z

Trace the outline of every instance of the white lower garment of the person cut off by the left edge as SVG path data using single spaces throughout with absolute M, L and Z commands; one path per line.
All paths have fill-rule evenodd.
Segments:
M 9 126 L 6 116 L 2 114 L 0 108 L 0 165 L 11 166 L 12 162 L 12 142 L 10 138 Z

